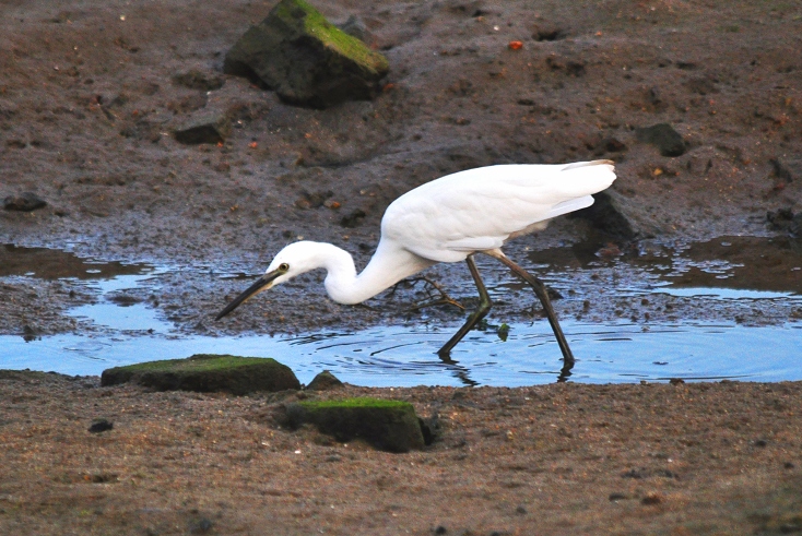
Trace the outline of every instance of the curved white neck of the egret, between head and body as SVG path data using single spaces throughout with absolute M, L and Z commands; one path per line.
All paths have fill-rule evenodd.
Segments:
M 359 303 L 433 264 L 436 263 L 396 247 L 387 240 L 380 240 L 370 262 L 359 275 L 356 275 L 351 254 L 337 246 L 331 246 L 327 250 L 323 265 L 329 271 L 326 276 L 326 290 L 331 299 L 340 303 Z

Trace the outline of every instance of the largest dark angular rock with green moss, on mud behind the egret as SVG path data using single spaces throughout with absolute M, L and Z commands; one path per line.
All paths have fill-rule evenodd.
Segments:
M 228 50 L 223 70 L 256 79 L 285 102 L 323 108 L 371 98 L 389 64 L 304 0 L 282 0 Z

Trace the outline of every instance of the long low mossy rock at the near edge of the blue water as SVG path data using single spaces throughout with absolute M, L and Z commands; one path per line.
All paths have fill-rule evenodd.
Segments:
M 104 370 L 101 377 L 101 385 L 127 382 L 157 391 L 222 391 L 238 395 L 300 389 L 293 371 L 275 359 L 210 354 L 115 367 Z

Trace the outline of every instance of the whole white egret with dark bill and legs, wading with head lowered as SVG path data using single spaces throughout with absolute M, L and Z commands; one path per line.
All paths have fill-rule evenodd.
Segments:
M 315 269 L 328 271 L 325 286 L 340 303 L 359 303 L 439 262 L 467 261 L 480 295 L 479 308 L 440 348 L 447 358 L 457 343 L 491 309 L 474 253 L 498 259 L 522 277 L 543 305 L 566 366 L 573 365 L 545 286 L 502 251 L 507 240 L 546 227 L 553 217 L 593 203 L 592 193 L 615 180 L 611 160 L 562 165 L 511 164 L 480 167 L 441 177 L 401 195 L 381 218 L 376 253 L 358 275 L 350 253 L 331 243 L 299 241 L 286 246 L 267 272 L 217 314 L 225 317 L 261 290 Z

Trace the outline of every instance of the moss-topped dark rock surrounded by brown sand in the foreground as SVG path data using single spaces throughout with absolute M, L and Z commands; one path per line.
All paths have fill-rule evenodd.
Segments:
M 286 424 L 297 428 L 306 422 L 338 441 L 358 438 L 390 452 L 424 446 L 421 420 L 409 402 L 359 397 L 290 404 Z

